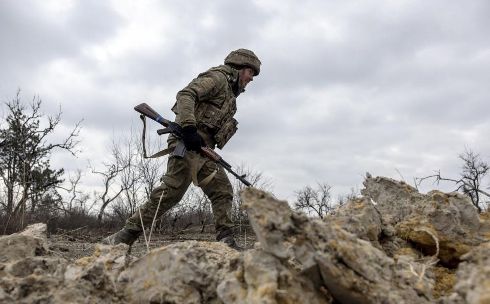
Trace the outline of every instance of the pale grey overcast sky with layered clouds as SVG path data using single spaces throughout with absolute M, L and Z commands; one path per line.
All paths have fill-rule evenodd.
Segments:
M 113 132 L 139 127 L 136 104 L 173 119 L 180 89 L 249 48 L 261 72 L 218 153 L 263 171 L 277 197 L 315 181 L 346 193 L 365 172 L 456 178 L 465 147 L 490 156 L 489 16 L 484 0 L 2 0 L 0 99 L 20 87 L 46 114 L 61 105 L 53 140 L 83 118 L 83 153 L 52 164 L 86 170 Z M 88 171 L 83 183 L 101 185 Z

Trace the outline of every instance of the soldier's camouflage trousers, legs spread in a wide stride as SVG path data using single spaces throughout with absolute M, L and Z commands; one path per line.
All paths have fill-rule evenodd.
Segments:
M 168 141 L 169 147 L 176 144 L 177 140 Z M 161 178 L 162 184 L 154 188 L 149 200 L 139 207 L 144 227 L 151 227 L 160 197 L 157 218 L 180 202 L 192 182 L 191 174 L 196 163 L 198 181 L 203 180 L 216 169 L 218 170 L 214 178 L 206 186 L 201 187 L 211 201 L 216 239 L 220 240 L 233 234 L 234 225 L 231 220 L 233 187 L 225 170 L 207 157 L 191 151 L 187 151 L 183 159 L 171 156 L 168 158 L 167 172 Z M 125 228 L 130 232 L 143 230 L 138 210 L 126 220 Z

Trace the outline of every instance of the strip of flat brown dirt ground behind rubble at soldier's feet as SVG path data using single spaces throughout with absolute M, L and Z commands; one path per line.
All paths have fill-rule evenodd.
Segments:
M 114 231 L 115 232 L 115 231 Z M 88 229 L 81 229 L 74 233 L 60 232 L 58 234 L 52 234 L 48 236 L 48 245 L 50 250 L 56 252 L 60 256 L 69 259 L 80 259 L 86 256 L 91 256 L 94 251 L 94 247 L 97 243 L 100 243 L 103 237 L 110 235 L 113 232 L 101 233 L 101 232 L 89 232 Z M 148 235 L 147 235 L 148 237 Z M 153 235 L 149 243 L 150 250 L 158 247 L 163 247 L 168 244 L 197 240 L 205 242 L 214 242 L 214 233 L 199 233 L 199 232 L 185 232 L 180 234 L 169 235 Z M 247 235 L 236 235 L 236 243 L 244 248 L 251 249 L 254 247 L 257 237 L 252 233 Z M 131 255 L 134 257 L 140 257 L 147 252 L 146 243 L 144 237 L 141 236 L 131 247 Z

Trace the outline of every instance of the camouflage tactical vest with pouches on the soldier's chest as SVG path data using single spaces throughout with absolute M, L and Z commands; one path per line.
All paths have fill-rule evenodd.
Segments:
M 227 87 L 209 99 L 197 102 L 194 107 L 194 117 L 198 129 L 212 135 L 216 146 L 219 149 L 223 149 L 238 130 L 238 122 L 233 118 L 236 113 L 236 96 L 233 93 L 233 84 L 236 81 L 234 74 L 236 74 L 236 70 L 221 65 L 199 74 L 198 78 L 206 76 L 209 73 L 215 73 L 216 71 L 225 76 Z

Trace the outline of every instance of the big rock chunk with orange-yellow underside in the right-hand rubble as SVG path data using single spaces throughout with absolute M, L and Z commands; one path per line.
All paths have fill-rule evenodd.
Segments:
M 452 267 L 460 257 L 490 237 L 490 227 L 480 218 L 468 197 L 457 192 L 420 194 L 404 182 L 368 175 L 362 194 L 377 202 L 376 209 L 394 225 L 397 235 L 419 244 Z M 438 248 L 438 249 L 437 249 Z

